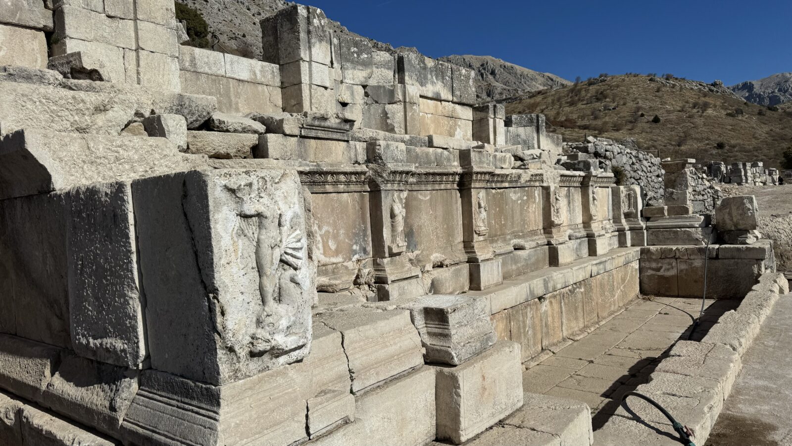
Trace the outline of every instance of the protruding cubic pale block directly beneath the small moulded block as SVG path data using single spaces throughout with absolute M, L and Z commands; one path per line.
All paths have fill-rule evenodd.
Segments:
M 436 367 L 437 437 L 454 444 L 523 405 L 520 345 L 501 340 L 457 367 Z

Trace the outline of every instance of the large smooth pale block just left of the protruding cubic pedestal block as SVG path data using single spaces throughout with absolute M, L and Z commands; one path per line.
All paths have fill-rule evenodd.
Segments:
M 435 417 L 435 371 L 424 366 L 358 396 L 355 422 L 310 444 L 367 446 L 383 441 L 426 444 L 435 438 Z

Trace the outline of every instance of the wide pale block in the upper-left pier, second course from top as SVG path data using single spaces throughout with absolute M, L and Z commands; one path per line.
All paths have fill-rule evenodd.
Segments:
M 153 2 L 154 0 L 147 0 Z M 103 13 L 76 6 L 55 10 L 55 37 L 111 44 L 119 48 L 137 49 L 135 21 L 107 17 Z

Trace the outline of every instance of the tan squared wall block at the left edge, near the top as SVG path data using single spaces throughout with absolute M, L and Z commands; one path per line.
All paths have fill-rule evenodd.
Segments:
M 5 9 L 14 6 L 4 4 Z M 47 67 L 47 38 L 34 29 L 17 28 L 0 23 L 0 65 L 21 65 L 31 68 Z

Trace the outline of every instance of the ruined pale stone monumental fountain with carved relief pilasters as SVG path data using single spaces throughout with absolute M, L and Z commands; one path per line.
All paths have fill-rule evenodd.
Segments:
M 686 369 L 711 427 L 729 328 L 785 292 L 752 197 L 694 160 L 615 185 L 322 10 L 261 30 L 252 60 L 181 45 L 168 0 L 0 2 L 0 444 L 611 444 L 642 425 L 524 373 L 705 271 L 745 298 L 686 347 L 728 353 Z M 691 379 L 666 360 L 647 392 Z

